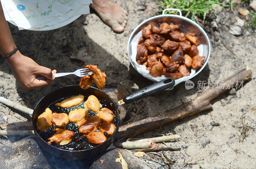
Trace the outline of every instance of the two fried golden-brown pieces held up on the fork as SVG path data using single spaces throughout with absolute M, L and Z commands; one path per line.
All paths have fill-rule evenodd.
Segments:
M 89 76 L 84 76 L 80 79 L 79 86 L 83 89 L 88 89 L 92 85 L 92 80 L 98 86 L 100 90 L 104 89 L 106 83 L 106 74 L 105 72 L 101 72 L 100 69 L 97 68 L 97 65 L 86 65 L 84 68 L 89 68 L 93 71 L 93 74 Z

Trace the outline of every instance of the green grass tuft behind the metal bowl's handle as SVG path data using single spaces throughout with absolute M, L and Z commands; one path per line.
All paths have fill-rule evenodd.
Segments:
M 177 8 L 185 13 L 185 17 L 191 18 L 195 21 L 194 16 L 203 17 L 205 20 L 208 11 L 214 11 L 214 4 L 219 4 L 221 7 L 231 7 L 233 10 L 233 5 L 231 0 L 228 1 L 229 4 L 220 3 L 219 0 L 161 0 L 162 11 L 166 8 Z M 172 12 L 171 12 L 172 13 Z

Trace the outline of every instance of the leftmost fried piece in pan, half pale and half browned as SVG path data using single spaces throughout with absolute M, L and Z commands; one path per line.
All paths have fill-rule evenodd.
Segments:
M 46 108 L 45 112 L 40 114 L 36 119 L 36 129 L 46 132 L 47 128 L 52 125 L 52 110 Z

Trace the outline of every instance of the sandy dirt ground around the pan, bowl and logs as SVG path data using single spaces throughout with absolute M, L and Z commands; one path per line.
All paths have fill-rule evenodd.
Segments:
M 127 53 L 127 41 L 133 29 L 143 20 L 155 16 L 160 8 L 156 1 L 118 1 L 128 11 L 128 22 L 124 33 L 116 34 L 110 27 L 106 26 L 100 18 L 91 13 L 78 18 L 73 23 L 57 30 L 34 32 L 23 30 L 9 24 L 14 41 L 20 48 L 21 53 L 34 59 L 38 64 L 56 69 L 57 72 L 70 72 L 82 68 L 86 64 L 95 64 L 106 71 L 107 83 L 119 83 L 128 92 L 136 91 L 146 87 L 153 82 L 140 76 L 130 65 Z M 239 133 L 242 128 L 242 114 L 252 107 L 255 102 L 255 74 L 256 74 L 256 36 L 255 31 L 248 26 L 242 26 L 242 35 L 234 36 L 228 33 L 229 27 L 234 25 L 235 16 L 239 7 L 246 7 L 246 4 L 235 6 L 236 9 L 222 9 L 211 20 L 204 25 L 198 22 L 206 31 L 211 41 L 211 56 L 204 70 L 192 79 L 197 83 L 199 80 L 218 81 L 222 80 L 236 71 L 248 66 L 252 69 L 252 79 L 244 84 L 242 89 L 234 95 L 223 94 L 212 101 L 211 111 L 198 113 L 179 121 L 163 125 L 161 129 L 149 131 L 138 137 L 150 137 L 153 134 L 178 134 L 181 140 L 166 143 L 168 146 L 180 147 L 180 151 L 166 151 L 166 155 L 175 161 L 171 168 L 255 168 L 256 167 L 256 115 L 255 111 L 245 114 L 245 121 L 250 128 L 248 136 L 239 143 Z M 217 28 L 213 28 L 214 23 Z M 227 46 L 234 51 L 233 55 L 221 43 L 216 33 Z M 39 49 L 39 47 L 41 47 Z M 76 52 L 83 50 L 86 53 L 85 63 L 70 59 Z M 34 108 L 37 101 L 46 93 L 58 87 L 78 84 L 79 78 L 67 76 L 57 78 L 51 85 L 23 91 L 16 82 L 11 68 L 0 59 L 0 96 L 20 103 L 24 106 Z M 128 111 L 126 120 L 133 118 L 137 112 L 136 106 L 140 107 L 138 116 L 133 119 L 139 120 L 154 114 L 169 110 L 195 98 L 202 90 L 196 88 L 185 89 L 185 83 L 176 86 L 172 91 L 162 92 L 141 101 L 136 105 L 132 104 Z M 10 112 L 9 112 L 10 111 Z M 26 114 L 15 113 L 14 109 L 0 105 L 0 124 L 27 121 L 30 117 Z M 9 113 L 9 118 L 4 120 L 3 116 Z M 15 113 L 15 114 L 14 114 Z M 218 122 L 220 126 L 212 126 L 212 121 Z M 0 147 L 12 143 L 21 137 L 0 137 Z M 160 143 L 159 145 L 166 145 Z M 162 152 L 159 153 L 163 155 Z M 150 157 L 150 156 L 147 156 Z M 168 168 L 162 159 L 153 157 L 159 163 L 145 160 L 153 168 Z M 162 156 L 163 157 L 163 156 Z M 152 157 L 151 157 L 152 158 Z

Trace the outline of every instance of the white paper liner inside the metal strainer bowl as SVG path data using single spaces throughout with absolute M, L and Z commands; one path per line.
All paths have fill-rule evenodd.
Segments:
M 150 79 L 150 80 L 152 80 L 152 81 L 155 81 L 155 82 L 156 82 L 156 81 L 159 82 L 159 81 L 161 81 L 161 80 L 166 79 L 167 77 L 165 77 L 164 75 L 159 76 L 159 77 L 153 77 L 153 76 L 151 76 L 151 75 L 149 74 L 149 71 L 146 69 L 146 66 L 145 66 L 145 65 L 139 65 L 139 64 L 137 63 L 137 61 L 136 61 L 137 46 L 138 46 L 138 43 L 139 43 L 139 40 L 140 40 L 140 37 L 141 37 L 141 36 L 142 36 L 142 30 L 141 30 L 139 33 L 137 33 L 137 34 L 134 36 L 134 38 L 132 39 L 132 41 L 131 41 L 131 47 L 132 47 L 131 62 L 132 62 L 133 65 L 135 66 L 135 69 L 136 69 L 141 75 L 143 75 L 144 77 L 146 77 L 146 78 L 148 78 L 148 79 Z M 207 56 L 207 53 L 205 54 L 205 52 L 204 52 L 204 51 L 206 51 L 206 50 L 204 50 L 204 48 L 207 49 L 207 45 L 201 44 L 201 45 L 198 45 L 198 46 L 197 46 L 198 55 L 199 55 L 199 56 L 203 56 L 203 55 L 204 55 L 204 56 Z M 205 58 L 205 60 L 206 60 L 206 59 L 207 59 L 207 58 Z M 181 83 L 181 82 L 185 81 L 186 79 L 192 77 L 193 75 L 195 75 L 195 73 L 196 73 L 196 70 L 195 70 L 195 69 L 191 69 L 190 75 L 189 75 L 189 76 L 185 76 L 185 77 L 181 77 L 181 78 L 179 78 L 179 79 L 176 79 L 176 80 L 175 80 L 175 85 L 178 85 L 179 83 Z

